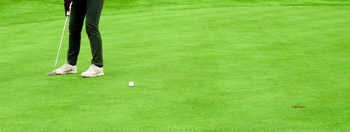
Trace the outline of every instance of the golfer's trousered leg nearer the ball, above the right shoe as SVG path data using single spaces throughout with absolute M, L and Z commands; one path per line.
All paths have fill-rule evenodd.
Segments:
M 91 64 L 97 67 L 103 66 L 102 40 L 98 31 L 99 17 L 104 0 L 86 0 L 86 33 L 90 40 L 92 60 Z

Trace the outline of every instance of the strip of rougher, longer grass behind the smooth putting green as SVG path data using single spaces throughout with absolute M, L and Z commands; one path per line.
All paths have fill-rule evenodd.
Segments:
M 102 15 L 236 6 L 350 5 L 348 0 L 106 0 Z M 0 26 L 58 20 L 62 0 L 1 0 Z M 63 12 L 63 13 L 62 13 Z M 63 14 L 63 15 L 62 15 Z

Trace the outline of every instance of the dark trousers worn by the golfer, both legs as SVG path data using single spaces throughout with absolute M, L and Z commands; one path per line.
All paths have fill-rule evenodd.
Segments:
M 67 62 L 75 65 L 80 50 L 81 29 L 86 16 L 85 28 L 90 40 L 91 64 L 103 66 L 102 40 L 98 31 L 99 17 L 104 0 L 73 0 L 69 16 L 69 47 Z

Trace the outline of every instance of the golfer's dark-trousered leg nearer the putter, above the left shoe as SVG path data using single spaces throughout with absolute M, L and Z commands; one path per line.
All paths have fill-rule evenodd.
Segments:
M 76 65 L 85 14 L 86 0 L 73 0 L 69 16 L 69 46 L 67 51 L 67 62 L 71 65 Z

